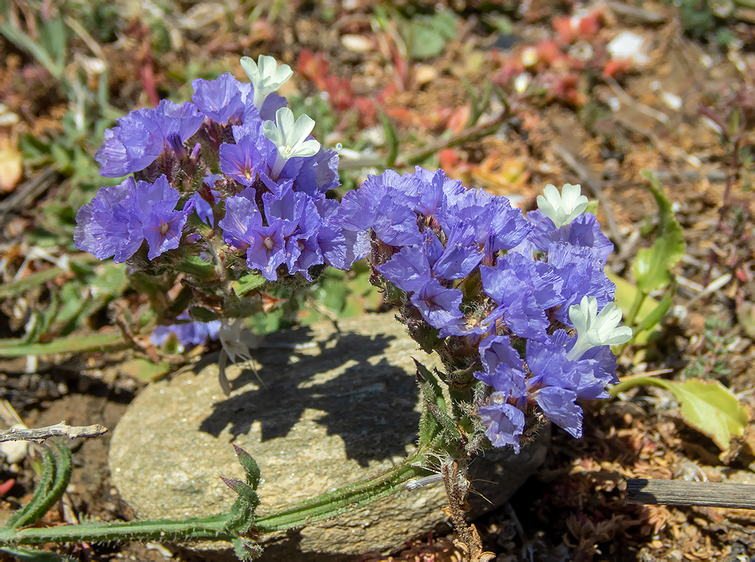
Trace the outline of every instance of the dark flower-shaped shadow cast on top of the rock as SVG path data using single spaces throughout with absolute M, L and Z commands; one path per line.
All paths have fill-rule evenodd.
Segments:
M 314 356 L 292 345 L 313 341 L 307 329 L 276 336 L 267 342 L 273 347 L 255 354 L 257 374 L 247 369 L 233 381 L 234 388 L 252 382 L 257 388 L 215 404 L 200 431 L 217 437 L 230 428 L 236 437 L 258 421 L 267 441 L 287 436 L 305 409 L 316 409 L 325 412 L 316 422 L 339 435 L 347 457 L 360 465 L 405 455 L 417 437 L 419 391 L 413 376 L 380 357 L 393 336 L 336 333 L 317 344 Z M 325 376 L 347 363 L 341 374 Z

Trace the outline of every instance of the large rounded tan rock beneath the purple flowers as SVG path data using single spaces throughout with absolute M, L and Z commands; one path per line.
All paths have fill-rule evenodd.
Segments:
M 430 368 L 437 361 L 390 314 L 340 327 L 317 323 L 270 335 L 271 347 L 254 352 L 256 375 L 227 369 L 230 397 L 217 382 L 217 355 L 144 389 L 119 422 L 109 459 L 112 480 L 137 517 L 227 511 L 234 494 L 219 476 L 243 477 L 230 443 L 260 466 L 260 515 L 385 471 L 411 451 L 420 411 L 412 357 Z M 546 428 L 519 455 L 498 449 L 472 463 L 479 492 L 470 496 L 472 516 L 510 498 L 544 459 L 549 437 Z M 402 492 L 269 536 L 263 559 L 347 560 L 395 550 L 442 530 L 445 505 L 439 483 Z

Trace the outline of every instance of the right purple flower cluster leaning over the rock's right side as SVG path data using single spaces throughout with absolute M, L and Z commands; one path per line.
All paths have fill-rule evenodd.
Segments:
M 569 203 L 562 215 L 573 212 Z M 421 168 L 371 176 L 341 202 L 341 226 L 368 236 L 358 253 L 369 254 L 410 334 L 440 352 L 449 378 L 474 369 L 488 385 L 476 406 L 494 446 L 519 449 L 535 404 L 581 435 L 575 400 L 605 397 L 615 381 L 609 345 L 570 354 L 578 339 L 567 332 L 576 327 L 570 311 L 586 298 L 602 310 L 615 289 L 603 273 L 612 244 L 584 206 L 562 225 L 539 210 L 525 218 L 505 197 Z

